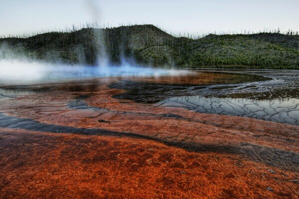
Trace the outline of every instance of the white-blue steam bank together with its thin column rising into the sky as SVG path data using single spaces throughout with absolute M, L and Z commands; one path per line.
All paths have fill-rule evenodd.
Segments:
M 89 13 L 96 23 L 100 21 L 100 9 L 95 0 L 86 0 Z M 153 69 L 139 66 L 134 61 L 122 59 L 120 66 L 112 65 L 106 49 L 104 30 L 94 29 L 96 43 L 99 46 L 98 66 L 67 65 L 36 61 L 34 56 L 26 54 L 22 46 L 11 48 L 9 44 L 0 46 L 0 86 L 14 84 L 46 83 L 66 79 L 128 77 L 128 76 L 165 76 L 179 75 L 182 71 Z M 80 52 L 80 49 L 79 49 Z M 48 52 L 53 55 L 55 52 Z M 59 59 L 59 55 L 55 58 Z M 32 60 L 33 58 L 33 60 Z M 56 59 L 56 60 L 57 60 Z

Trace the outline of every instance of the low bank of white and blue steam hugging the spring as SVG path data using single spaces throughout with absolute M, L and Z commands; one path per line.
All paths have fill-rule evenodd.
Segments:
M 0 60 L 0 85 L 45 83 L 67 79 L 176 76 L 184 71 L 154 69 L 123 63 L 121 66 L 91 67 L 82 65 L 52 64 L 20 59 Z

